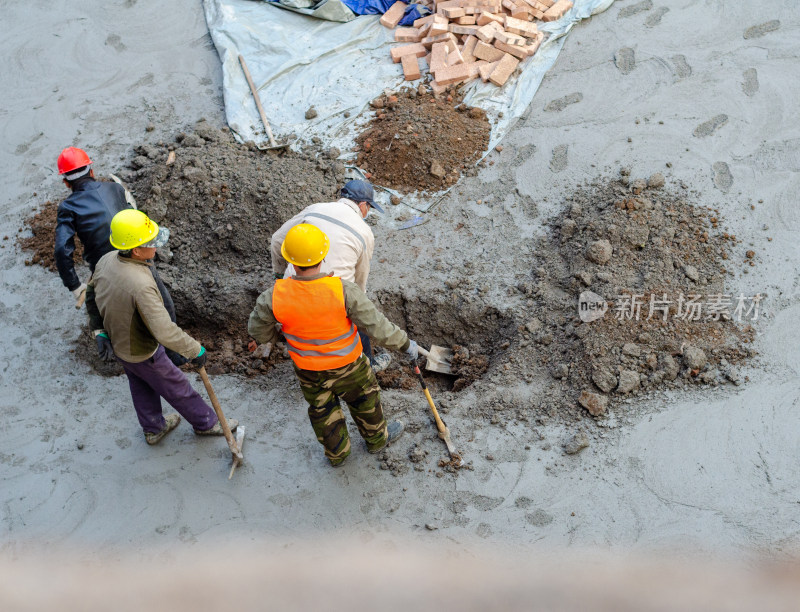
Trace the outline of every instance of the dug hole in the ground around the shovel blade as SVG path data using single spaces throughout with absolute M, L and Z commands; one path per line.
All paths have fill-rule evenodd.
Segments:
M 455 292 L 447 298 L 440 293 L 409 297 L 378 291 L 375 301 L 390 321 L 425 348 L 436 344 L 453 349 L 453 375 L 423 372 L 428 384 L 440 391 L 461 391 L 502 363 L 517 327 L 510 315 L 495 306 Z M 402 359 L 393 360 L 389 368 L 379 372 L 378 380 L 384 389 L 419 386 L 413 369 Z

